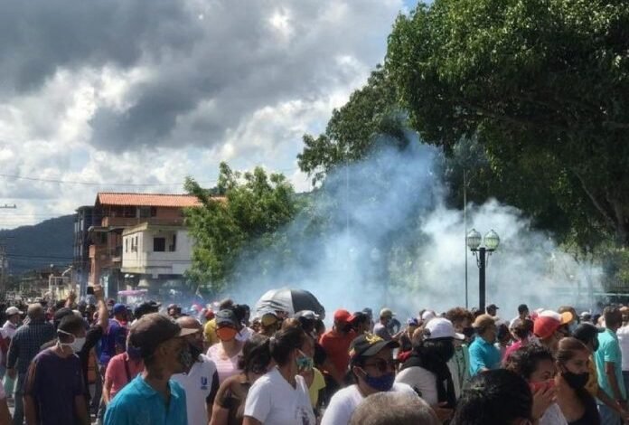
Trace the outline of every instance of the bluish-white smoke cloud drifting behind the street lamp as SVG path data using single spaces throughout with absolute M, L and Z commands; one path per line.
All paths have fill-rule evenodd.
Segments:
M 328 313 L 385 306 L 402 317 L 422 308 L 444 311 L 465 306 L 467 256 L 469 307 L 477 306 L 476 260 L 465 247 L 464 213 L 446 206 L 440 156 L 414 143 L 337 168 L 282 231 L 281 247 L 243 256 L 230 295 L 253 306 L 269 288 L 287 286 L 310 290 Z M 486 299 L 504 318 L 521 303 L 590 307 L 588 288 L 599 286 L 599 270 L 531 230 L 516 208 L 495 200 L 470 204 L 467 228 L 501 237 L 486 270 Z

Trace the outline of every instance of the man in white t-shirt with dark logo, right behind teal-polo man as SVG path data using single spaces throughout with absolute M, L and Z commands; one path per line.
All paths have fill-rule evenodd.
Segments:
M 211 408 L 219 391 L 219 373 L 216 365 L 208 356 L 202 354 L 203 327 L 192 316 L 182 316 L 177 324 L 185 329 L 197 329 L 198 332 L 184 338 L 190 345 L 190 351 L 197 361 L 192 364 L 188 373 L 177 373 L 173 380 L 179 382 L 185 391 L 186 411 L 189 425 L 208 425 L 211 419 Z

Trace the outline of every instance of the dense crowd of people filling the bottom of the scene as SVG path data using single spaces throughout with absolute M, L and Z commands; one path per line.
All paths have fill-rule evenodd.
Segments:
M 0 425 L 618 425 L 629 308 L 5 308 Z M 515 312 L 513 312 L 515 315 Z M 13 418 L 9 406 L 14 407 Z

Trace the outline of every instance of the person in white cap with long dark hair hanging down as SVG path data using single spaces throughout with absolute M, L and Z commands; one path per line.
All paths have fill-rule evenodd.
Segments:
M 447 362 L 455 355 L 455 340 L 465 335 L 455 333 L 452 322 L 435 317 L 424 326 L 424 338 L 402 364 L 395 382 L 407 383 L 433 407 L 442 422 L 452 418 L 456 404 L 455 383 Z

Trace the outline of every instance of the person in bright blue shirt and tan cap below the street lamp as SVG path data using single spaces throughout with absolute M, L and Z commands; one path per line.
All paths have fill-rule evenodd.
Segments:
M 500 367 L 500 350 L 493 346 L 498 328 L 495 319 L 481 315 L 474 320 L 476 338 L 470 345 L 470 376 Z

